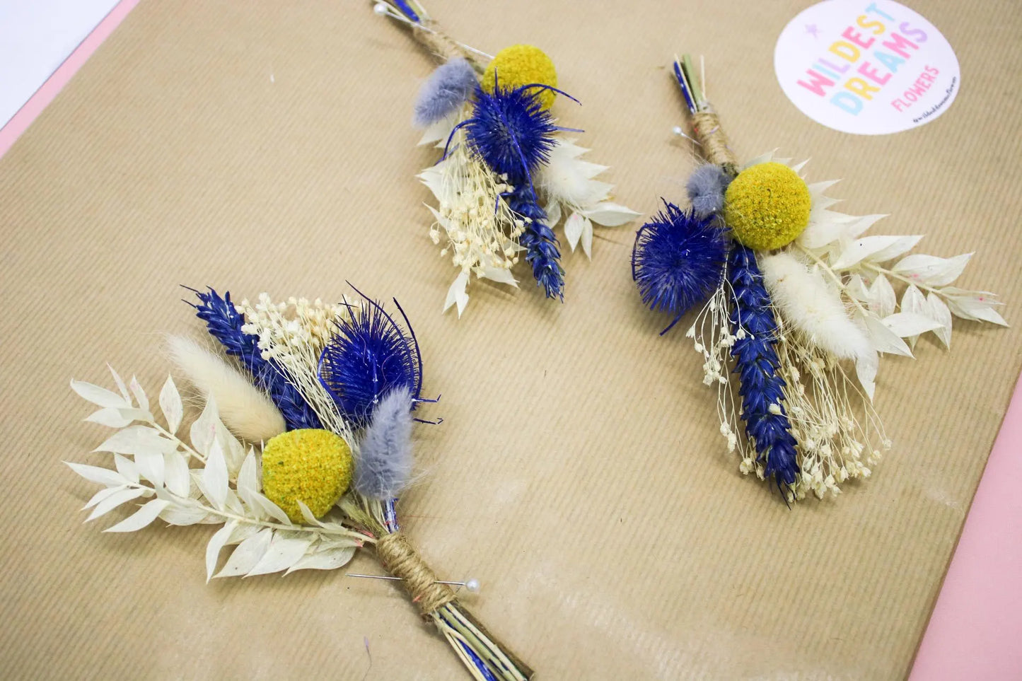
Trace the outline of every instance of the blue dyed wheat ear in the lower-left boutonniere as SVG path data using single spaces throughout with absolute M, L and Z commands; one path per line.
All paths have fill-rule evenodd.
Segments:
M 270 396 L 283 415 L 287 429 L 323 427 L 319 416 L 301 393 L 287 380 L 284 372 L 275 363 L 263 359 L 257 346 L 259 337 L 241 330 L 245 317 L 234 307 L 230 291 L 221 298 L 213 288 L 208 292 L 194 288 L 188 290 L 198 297 L 200 304 L 185 303 L 195 308 L 195 316 L 205 322 L 210 334 L 220 342 L 228 355 L 238 358 L 252 375 L 252 382 Z

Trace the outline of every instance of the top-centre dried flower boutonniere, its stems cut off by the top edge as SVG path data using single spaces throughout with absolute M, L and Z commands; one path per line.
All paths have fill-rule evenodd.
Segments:
M 607 170 L 582 160 L 588 151 L 557 125 L 551 106 L 557 71 L 542 50 L 512 45 L 490 56 L 458 43 L 412 0 L 374 2 L 377 13 L 407 26 L 440 65 L 422 85 L 413 123 L 420 144 L 444 157 L 419 179 L 436 198 L 429 236 L 458 275 L 444 310 L 460 317 L 472 275 L 517 286 L 512 269 L 524 254 L 547 298 L 564 300 L 564 268 L 554 228 L 564 219 L 572 251 L 592 256 L 593 223 L 616 227 L 638 213 L 610 200 L 613 186 L 595 179 Z

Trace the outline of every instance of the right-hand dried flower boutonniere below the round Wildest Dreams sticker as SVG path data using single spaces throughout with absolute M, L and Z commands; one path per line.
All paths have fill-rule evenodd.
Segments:
M 880 355 L 912 357 L 925 333 L 949 348 L 953 316 L 1006 325 L 1002 304 L 951 285 L 972 254 L 864 236 L 885 216 L 832 211 L 835 182 L 806 183 L 804 163 L 768 153 L 739 165 L 688 56 L 673 75 L 707 163 L 689 178 L 689 209 L 664 201 L 639 229 L 633 278 L 646 305 L 673 315 L 664 332 L 699 308 L 686 335 L 740 470 L 789 503 L 837 495 L 891 446 L 873 408 Z

